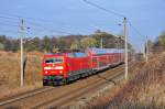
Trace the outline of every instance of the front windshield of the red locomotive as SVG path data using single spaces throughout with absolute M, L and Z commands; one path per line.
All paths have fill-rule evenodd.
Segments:
M 46 64 L 62 64 L 64 61 L 63 57 L 46 57 L 45 63 Z

